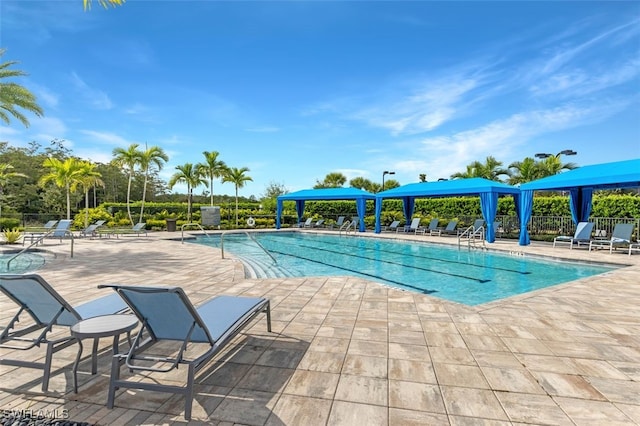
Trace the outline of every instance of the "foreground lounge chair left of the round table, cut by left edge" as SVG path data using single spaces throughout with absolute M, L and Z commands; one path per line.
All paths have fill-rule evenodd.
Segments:
M 127 308 L 122 299 L 115 294 L 73 307 L 36 274 L 0 275 L 0 292 L 20 306 L 0 334 L 0 348 L 28 351 L 41 345 L 46 346 L 44 362 L 8 359 L 2 356 L 0 364 L 42 369 L 43 392 L 49 387 L 53 354 L 76 341 L 71 337 L 69 327 L 83 319 L 115 314 Z M 20 328 L 17 328 L 18 323 Z M 59 329 L 66 329 L 67 332 L 50 339 Z

